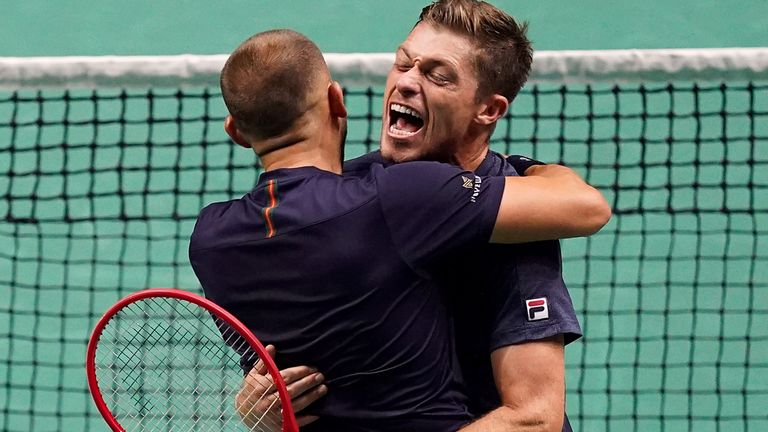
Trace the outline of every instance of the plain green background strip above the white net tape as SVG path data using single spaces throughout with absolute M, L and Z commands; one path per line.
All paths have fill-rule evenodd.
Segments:
M 0 0 L 0 56 L 221 54 L 290 27 L 326 52 L 390 51 L 426 0 Z M 492 2 L 537 49 L 768 46 L 766 0 Z

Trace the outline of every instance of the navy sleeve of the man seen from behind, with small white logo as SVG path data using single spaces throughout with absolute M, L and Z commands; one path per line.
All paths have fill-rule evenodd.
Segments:
M 402 257 L 416 268 L 491 237 L 503 177 L 480 177 L 437 162 L 373 169 L 384 219 Z

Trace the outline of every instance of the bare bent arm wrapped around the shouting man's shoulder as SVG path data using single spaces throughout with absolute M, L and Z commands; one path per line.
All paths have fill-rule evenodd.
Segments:
M 603 195 L 570 168 L 536 165 L 507 177 L 492 243 L 526 243 L 596 233 L 611 217 Z

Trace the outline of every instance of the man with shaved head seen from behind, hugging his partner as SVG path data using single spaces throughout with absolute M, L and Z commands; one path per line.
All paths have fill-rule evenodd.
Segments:
M 282 55 L 296 47 L 314 60 Z M 281 30 L 227 62 L 225 130 L 265 172 L 243 198 L 201 211 L 190 261 L 206 296 L 280 347 L 281 367 L 323 371 L 333 391 L 313 406 L 320 419 L 308 430 L 456 430 L 471 416 L 438 269 L 488 241 L 589 235 L 610 210 L 561 166 L 481 177 L 434 162 L 371 163 L 365 175 L 341 176 L 346 108 L 321 59 Z M 249 76 L 291 70 L 305 80 Z M 302 94 L 286 99 L 284 85 Z M 265 120 L 269 107 L 287 113 L 281 127 Z M 235 117 L 247 112 L 262 114 Z

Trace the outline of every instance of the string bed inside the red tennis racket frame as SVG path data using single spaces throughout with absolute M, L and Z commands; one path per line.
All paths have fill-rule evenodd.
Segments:
M 196 305 L 156 300 L 163 299 L 125 308 L 100 340 L 97 374 L 107 384 L 116 418 L 142 431 L 202 431 L 214 424 L 215 430 L 282 430 L 282 417 L 275 413 L 280 400 L 272 384 L 262 388 L 244 414 L 256 414 L 250 428 L 237 412 L 240 359 L 258 359 L 248 342 Z M 258 390 L 254 387 L 251 397 Z M 258 411 L 270 395 L 274 399 L 269 406 Z

